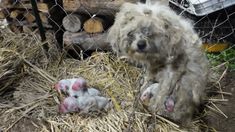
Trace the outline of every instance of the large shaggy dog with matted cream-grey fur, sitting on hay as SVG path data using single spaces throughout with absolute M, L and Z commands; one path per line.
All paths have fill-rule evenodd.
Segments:
M 153 88 L 148 109 L 179 123 L 191 120 L 204 96 L 208 62 L 189 21 L 168 6 L 125 3 L 108 41 L 119 56 L 146 66 L 144 92 Z

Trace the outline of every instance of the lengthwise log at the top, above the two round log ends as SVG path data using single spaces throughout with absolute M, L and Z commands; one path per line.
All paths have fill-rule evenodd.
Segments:
M 114 15 L 124 2 L 136 3 L 139 0 L 63 0 L 66 11 L 89 15 Z

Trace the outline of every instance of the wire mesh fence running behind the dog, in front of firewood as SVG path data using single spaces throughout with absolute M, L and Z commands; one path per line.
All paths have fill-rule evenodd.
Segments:
M 104 44 L 105 33 L 114 22 L 115 13 L 121 4 L 119 1 L 37 0 L 36 2 L 43 27 L 46 31 L 53 31 L 60 49 L 63 46 L 76 47 L 75 49 L 82 49 L 84 52 L 110 49 L 107 43 Z M 128 0 L 128 2 L 139 1 Z M 195 4 L 195 1 L 170 0 L 169 6 L 193 21 L 194 28 L 204 43 L 218 45 L 229 42 L 232 43 L 229 46 L 233 46 L 235 38 L 233 2 L 230 2 L 231 6 L 225 5 L 226 0 L 224 3 L 211 1 L 211 5 L 210 1 L 206 2 L 198 0 Z M 38 28 L 30 0 L 2 0 L 0 17 L 6 19 L 9 27 L 15 32 L 30 32 Z M 213 47 L 210 48 L 213 50 Z

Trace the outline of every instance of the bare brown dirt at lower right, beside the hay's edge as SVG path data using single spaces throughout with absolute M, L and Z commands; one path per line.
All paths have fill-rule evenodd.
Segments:
M 228 102 L 217 103 L 216 105 L 228 116 L 210 112 L 206 117 L 209 125 L 219 132 L 235 132 L 235 71 L 228 72 L 221 81 L 222 90 L 232 93 L 231 96 L 225 96 Z

